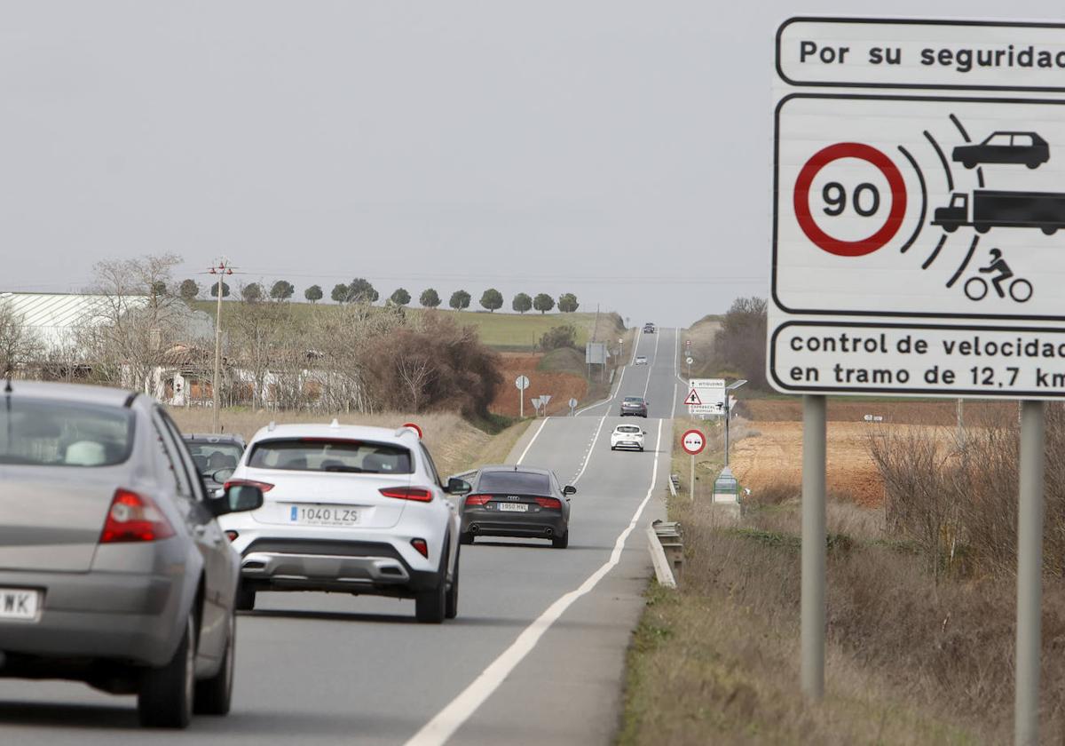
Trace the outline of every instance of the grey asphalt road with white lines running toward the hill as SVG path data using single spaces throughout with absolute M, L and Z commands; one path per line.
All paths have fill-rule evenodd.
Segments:
M 686 391 L 673 329 L 639 335 L 648 366 L 610 400 L 534 423 L 511 454 L 576 484 L 570 547 L 462 548 L 459 616 L 414 622 L 412 601 L 260 594 L 237 622 L 233 711 L 181 733 L 137 727 L 132 697 L 0 680 L 4 744 L 606 744 L 625 650 L 652 570 L 645 526 L 665 513 L 670 418 Z M 613 453 L 621 396 L 644 395 L 644 453 Z M 627 420 L 632 421 L 632 420 Z

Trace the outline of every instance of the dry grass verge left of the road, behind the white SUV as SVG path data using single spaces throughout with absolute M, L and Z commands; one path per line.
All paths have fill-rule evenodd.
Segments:
M 200 408 L 173 408 L 170 415 L 183 433 L 210 433 L 211 410 Z M 529 420 L 507 427 L 502 433 L 491 435 L 478 429 L 458 415 L 382 412 L 377 415 L 338 415 L 341 424 L 373 425 L 377 427 L 398 427 L 405 422 L 416 422 L 425 433 L 425 444 L 441 476 L 474 469 L 482 464 L 497 463 L 529 425 Z M 307 412 L 265 412 L 248 409 L 226 409 L 222 412 L 223 429 L 239 433 L 250 439 L 256 432 L 271 420 L 288 422 L 330 422 L 332 417 L 315 416 Z

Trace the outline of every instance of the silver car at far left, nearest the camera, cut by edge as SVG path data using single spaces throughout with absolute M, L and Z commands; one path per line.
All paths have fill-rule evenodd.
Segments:
M 2 383 L 0 383 L 2 385 Z M 7 382 L 0 391 L 0 677 L 136 694 L 143 725 L 224 715 L 236 553 L 181 435 L 145 395 Z

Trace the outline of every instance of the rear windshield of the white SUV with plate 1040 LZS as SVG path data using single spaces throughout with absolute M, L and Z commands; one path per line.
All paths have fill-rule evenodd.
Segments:
M 402 445 L 340 438 L 278 438 L 251 449 L 252 469 L 335 471 L 353 474 L 411 474 L 410 451 Z

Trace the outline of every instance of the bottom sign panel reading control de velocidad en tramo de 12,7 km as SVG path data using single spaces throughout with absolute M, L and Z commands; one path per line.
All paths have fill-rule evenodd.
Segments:
M 791 323 L 770 352 L 785 389 L 1065 395 L 1065 330 Z

